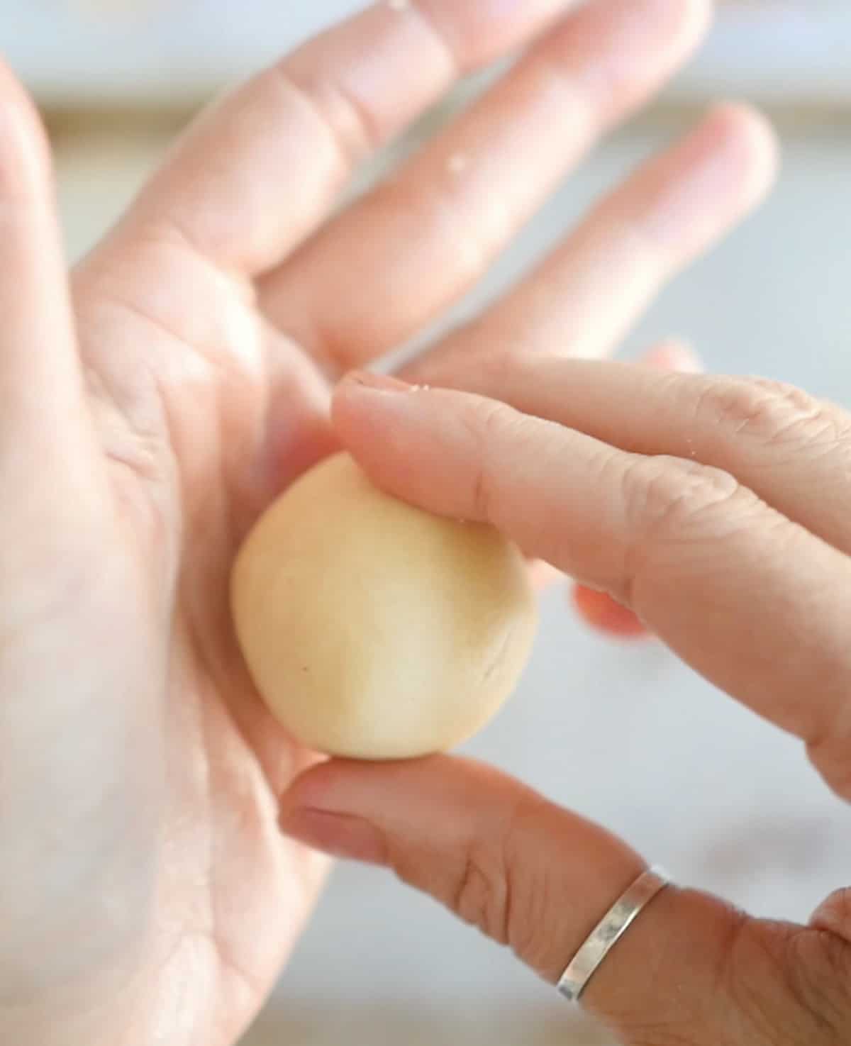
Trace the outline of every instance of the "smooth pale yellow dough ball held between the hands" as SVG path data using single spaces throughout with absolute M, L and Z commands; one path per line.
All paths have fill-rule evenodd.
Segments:
M 409 758 L 480 730 L 537 623 L 520 550 L 378 491 L 348 454 L 261 517 L 232 576 L 237 638 L 273 714 L 328 755 Z

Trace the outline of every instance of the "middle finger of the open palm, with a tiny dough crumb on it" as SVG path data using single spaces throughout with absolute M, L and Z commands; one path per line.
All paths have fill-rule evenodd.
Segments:
M 584 5 L 400 177 L 272 276 L 272 318 L 341 368 L 415 334 L 685 60 L 708 13 L 705 0 Z

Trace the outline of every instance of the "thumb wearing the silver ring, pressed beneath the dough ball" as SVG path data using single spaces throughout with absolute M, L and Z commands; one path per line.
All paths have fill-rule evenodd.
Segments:
M 391 868 L 554 983 L 597 922 L 644 870 L 626 844 L 478 764 L 439 756 L 330 763 L 296 781 L 281 824 L 303 842 Z M 816 931 L 748 919 L 668 887 L 589 982 L 583 1005 L 626 1046 L 804 1046 L 824 1025 L 790 991 L 798 934 L 822 955 L 825 998 L 847 1015 L 843 962 Z M 803 978 L 802 978 L 803 979 Z M 814 1003 L 814 993 L 809 1000 Z M 823 1000 L 824 1004 L 824 1000 Z M 818 1032 L 818 1033 L 816 1033 Z

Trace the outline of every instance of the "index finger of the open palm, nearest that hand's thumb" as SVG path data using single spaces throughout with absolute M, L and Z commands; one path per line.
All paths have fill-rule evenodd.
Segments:
M 142 196 L 135 221 L 188 241 L 228 271 L 263 271 L 326 217 L 372 150 L 566 2 L 373 4 L 202 117 Z

